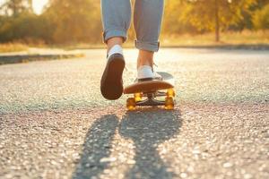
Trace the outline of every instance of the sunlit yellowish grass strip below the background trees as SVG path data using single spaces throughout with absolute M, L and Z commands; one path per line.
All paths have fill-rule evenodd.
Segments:
M 134 40 L 129 39 L 125 47 L 134 47 Z M 269 30 L 265 31 L 250 31 L 242 32 L 223 32 L 221 33 L 221 41 L 214 41 L 214 34 L 207 33 L 203 35 L 161 35 L 161 47 L 269 47 Z M 0 44 L 0 53 L 4 52 L 19 52 L 25 51 L 29 47 L 52 47 L 72 49 L 89 49 L 89 48 L 104 48 L 104 44 L 74 44 L 74 45 L 33 45 L 29 46 L 22 43 L 6 43 Z

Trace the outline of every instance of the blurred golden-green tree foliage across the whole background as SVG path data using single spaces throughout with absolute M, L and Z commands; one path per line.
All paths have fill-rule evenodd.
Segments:
M 162 34 L 215 31 L 218 39 L 220 31 L 253 30 L 254 26 L 268 29 L 268 3 L 269 0 L 168 0 Z M 0 42 L 96 43 L 101 42 L 101 31 L 100 0 L 50 0 L 40 15 L 33 13 L 31 0 L 6 0 L 0 7 Z M 129 37 L 134 38 L 134 30 Z

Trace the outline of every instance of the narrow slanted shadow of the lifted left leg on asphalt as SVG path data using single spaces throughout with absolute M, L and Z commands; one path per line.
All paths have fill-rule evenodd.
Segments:
M 108 167 L 108 162 L 101 162 L 101 158 L 110 155 L 111 142 L 117 129 L 116 115 L 105 115 L 92 124 L 87 133 L 82 157 L 76 166 L 73 178 L 91 178 L 99 175 Z

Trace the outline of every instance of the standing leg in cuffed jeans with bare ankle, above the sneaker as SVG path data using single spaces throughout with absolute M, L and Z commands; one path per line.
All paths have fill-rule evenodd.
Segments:
M 143 65 L 153 65 L 153 54 L 159 50 L 163 5 L 163 0 L 135 1 L 135 47 L 139 49 L 137 68 Z

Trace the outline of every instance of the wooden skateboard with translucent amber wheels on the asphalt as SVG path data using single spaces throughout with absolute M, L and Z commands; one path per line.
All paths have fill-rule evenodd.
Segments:
M 138 81 L 124 89 L 124 94 L 132 94 L 133 98 L 127 98 L 126 107 L 132 111 L 138 106 L 164 106 L 165 109 L 172 110 L 175 107 L 174 77 L 168 72 L 158 72 L 161 79 L 152 81 Z M 159 98 L 164 99 L 159 99 Z

